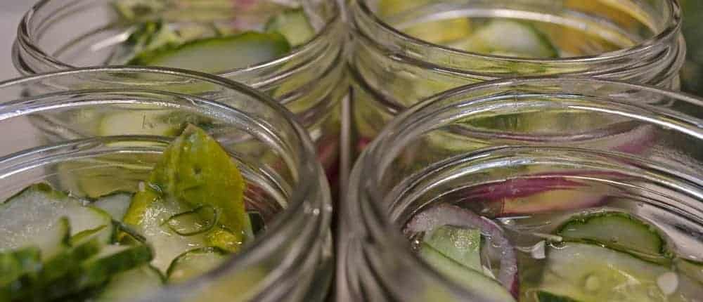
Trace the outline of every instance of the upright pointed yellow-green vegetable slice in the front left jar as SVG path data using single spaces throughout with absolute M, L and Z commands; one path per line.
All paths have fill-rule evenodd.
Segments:
M 134 195 L 124 223 L 134 225 L 160 251 L 153 265 L 162 270 L 193 248 L 215 246 L 237 251 L 253 237 L 244 207 L 244 187 L 239 169 L 219 143 L 202 129 L 188 126 L 167 147 L 143 190 Z M 214 209 L 218 216 L 217 225 L 208 232 L 181 236 L 169 225 L 162 225 L 177 214 L 202 206 Z M 188 215 L 179 219 L 204 223 L 212 217 Z

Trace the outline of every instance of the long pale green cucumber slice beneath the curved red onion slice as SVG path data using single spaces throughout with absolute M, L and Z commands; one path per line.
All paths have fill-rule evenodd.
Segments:
M 481 296 L 494 298 L 496 301 L 515 301 L 510 292 L 496 280 L 447 258 L 429 245 L 423 243 L 419 253 L 432 268 L 466 289 L 481 293 Z

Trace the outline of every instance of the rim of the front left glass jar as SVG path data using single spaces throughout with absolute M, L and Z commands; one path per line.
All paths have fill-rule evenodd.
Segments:
M 236 91 L 237 93 L 241 93 L 244 96 L 252 98 L 252 100 L 258 100 L 260 103 L 263 103 L 264 105 L 266 105 L 266 107 L 269 107 L 271 110 L 273 110 L 273 112 L 276 112 L 277 117 L 284 120 L 285 124 L 290 126 L 292 133 L 295 133 L 295 136 L 292 138 L 291 143 L 294 144 L 296 149 L 302 150 L 302 152 L 300 152 L 300 154 L 297 156 L 298 164 L 295 167 L 296 169 L 298 169 L 300 177 L 298 178 L 297 185 L 295 186 L 294 190 L 292 190 L 290 197 L 288 197 L 288 206 L 286 206 L 280 214 L 276 215 L 276 221 L 274 221 L 272 225 L 267 226 L 266 234 L 264 235 L 264 237 L 262 237 L 263 239 L 257 239 L 251 244 L 245 245 L 245 247 L 243 247 L 240 252 L 234 254 L 233 256 L 231 256 L 231 258 L 228 258 L 228 260 L 221 264 L 218 268 L 210 271 L 209 273 L 206 273 L 205 275 L 196 277 L 193 280 L 188 280 L 188 282 L 184 282 L 183 284 L 179 284 L 166 289 L 157 290 L 157 297 L 162 296 L 163 294 L 169 294 L 169 292 L 187 292 L 186 289 L 195 288 L 198 287 L 198 284 L 206 284 L 207 282 L 210 282 L 212 280 L 217 280 L 217 278 L 221 277 L 222 275 L 227 275 L 228 273 L 236 271 L 237 268 L 240 268 L 243 265 L 242 263 L 256 262 L 258 258 L 262 258 L 262 255 L 270 254 L 271 252 L 275 251 L 275 246 L 272 247 L 272 245 L 280 244 L 281 241 L 280 239 L 276 238 L 285 237 L 285 235 L 288 235 L 288 233 L 290 232 L 299 231 L 297 229 L 294 229 L 292 226 L 290 226 L 290 223 L 287 222 L 302 217 L 301 213 L 304 213 L 304 211 L 306 211 L 306 209 L 310 206 L 309 204 L 311 200 L 313 202 L 319 202 L 320 204 L 316 204 L 314 206 L 319 207 L 319 209 L 325 212 L 325 214 L 328 212 L 328 207 L 331 203 L 328 192 L 328 185 L 323 179 L 324 177 L 323 172 L 321 170 L 321 166 L 319 166 L 319 164 L 317 163 L 315 157 L 315 149 L 309 136 L 307 136 L 307 133 L 304 131 L 302 126 L 300 126 L 296 122 L 295 117 L 292 115 L 292 113 L 286 110 L 283 105 L 280 105 L 280 103 L 273 100 L 273 98 L 266 96 L 264 93 L 261 93 L 254 88 L 245 86 L 244 84 L 240 84 L 236 81 L 231 81 L 229 79 L 217 77 L 212 74 L 194 72 L 190 70 L 179 70 L 174 68 L 106 66 L 83 67 L 58 72 L 46 72 L 41 74 L 34 74 L 29 77 L 20 77 L 16 79 L 9 79 L 6 81 L 0 81 L 0 91 L 3 91 L 4 89 L 14 88 L 15 86 L 28 86 L 34 82 L 41 82 L 47 79 L 60 79 L 61 77 L 72 77 L 76 74 L 155 74 L 167 77 L 177 77 L 178 79 L 202 81 L 214 84 L 219 88 L 225 88 L 232 91 Z M 143 91 L 143 87 L 135 86 L 135 88 L 141 89 Z M 66 89 L 67 91 L 70 91 L 70 88 L 66 87 Z M 82 93 L 101 93 L 101 91 L 104 90 L 101 88 L 81 90 Z M 168 93 L 167 91 L 159 91 L 153 89 L 148 89 L 148 92 L 156 94 Z M 13 119 L 15 117 L 22 116 L 21 113 L 18 114 L 17 112 L 15 112 L 15 105 L 22 105 L 22 103 L 33 102 L 37 98 L 41 98 L 41 95 L 31 96 L 30 98 L 18 98 L 10 100 L 10 102 L 13 104 L 12 106 L 7 106 L 4 103 L 0 103 L 0 120 Z M 219 103 L 214 100 L 207 100 L 207 97 L 202 98 L 200 103 L 202 103 L 202 105 L 207 105 L 208 110 L 220 112 L 219 114 L 228 114 L 227 112 L 241 112 L 240 110 L 237 110 L 236 108 L 231 107 L 226 103 Z M 45 106 L 41 105 L 38 108 L 41 107 Z M 32 112 L 34 111 L 36 110 L 32 110 Z M 4 161 L 8 159 L 11 161 L 13 157 L 22 157 L 22 155 L 27 154 L 28 152 L 32 153 L 34 151 L 44 149 L 46 149 L 46 146 L 35 147 L 29 150 L 20 150 L 19 152 L 13 152 L 10 155 L 1 155 L 0 158 L 4 159 Z M 304 177 L 314 175 L 318 175 L 320 177 Z M 321 196 L 321 200 L 318 200 L 316 195 Z M 324 228 L 325 225 L 329 225 L 330 222 L 329 215 L 325 216 L 325 214 L 321 214 L 321 218 L 318 221 L 308 219 L 307 223 L 316 223 L 318 225 L 322 225 Z

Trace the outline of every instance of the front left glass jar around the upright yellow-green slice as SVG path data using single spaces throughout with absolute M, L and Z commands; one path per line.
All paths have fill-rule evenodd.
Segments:
M 183 92 L 203 86 L 209 93 Z M 330 192 L 309 137 L 273 99 L 208 74 L 122 67 L 15 79 L 0 91 L 3 200 L 38 182 L 77 197 L 136 192 L 188 123 L 236 161 L 245 205 L 266 230 L 206 275 L 144 301 L 323 301 L 333 274 Z

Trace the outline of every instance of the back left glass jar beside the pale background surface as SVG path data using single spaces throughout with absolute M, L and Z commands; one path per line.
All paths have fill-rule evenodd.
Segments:
M 120 4 L 128 13 L 116 9 Z M 336 1 L 41 1 L 20 23 L 13 60 L 25 75 L 110 65 L 112 55 L 132 43 L 131 33 L 147 22 L 164 22 L 165 27 L 181 30 L 183 37 L 210 37 L 238 26 L 260 30 L 265 20 L 257 14 L 265 15 L 266 10 L 257 11 L 257 5 L 304 8 L 316 32 L 314 38 L 283 57 L 243 68 L 224 66 L 227 70 L 216 75 L 264 91 L 295 113 L 335 183 L 340 112 L 348 93 L 343 63 L 346 29 Z

